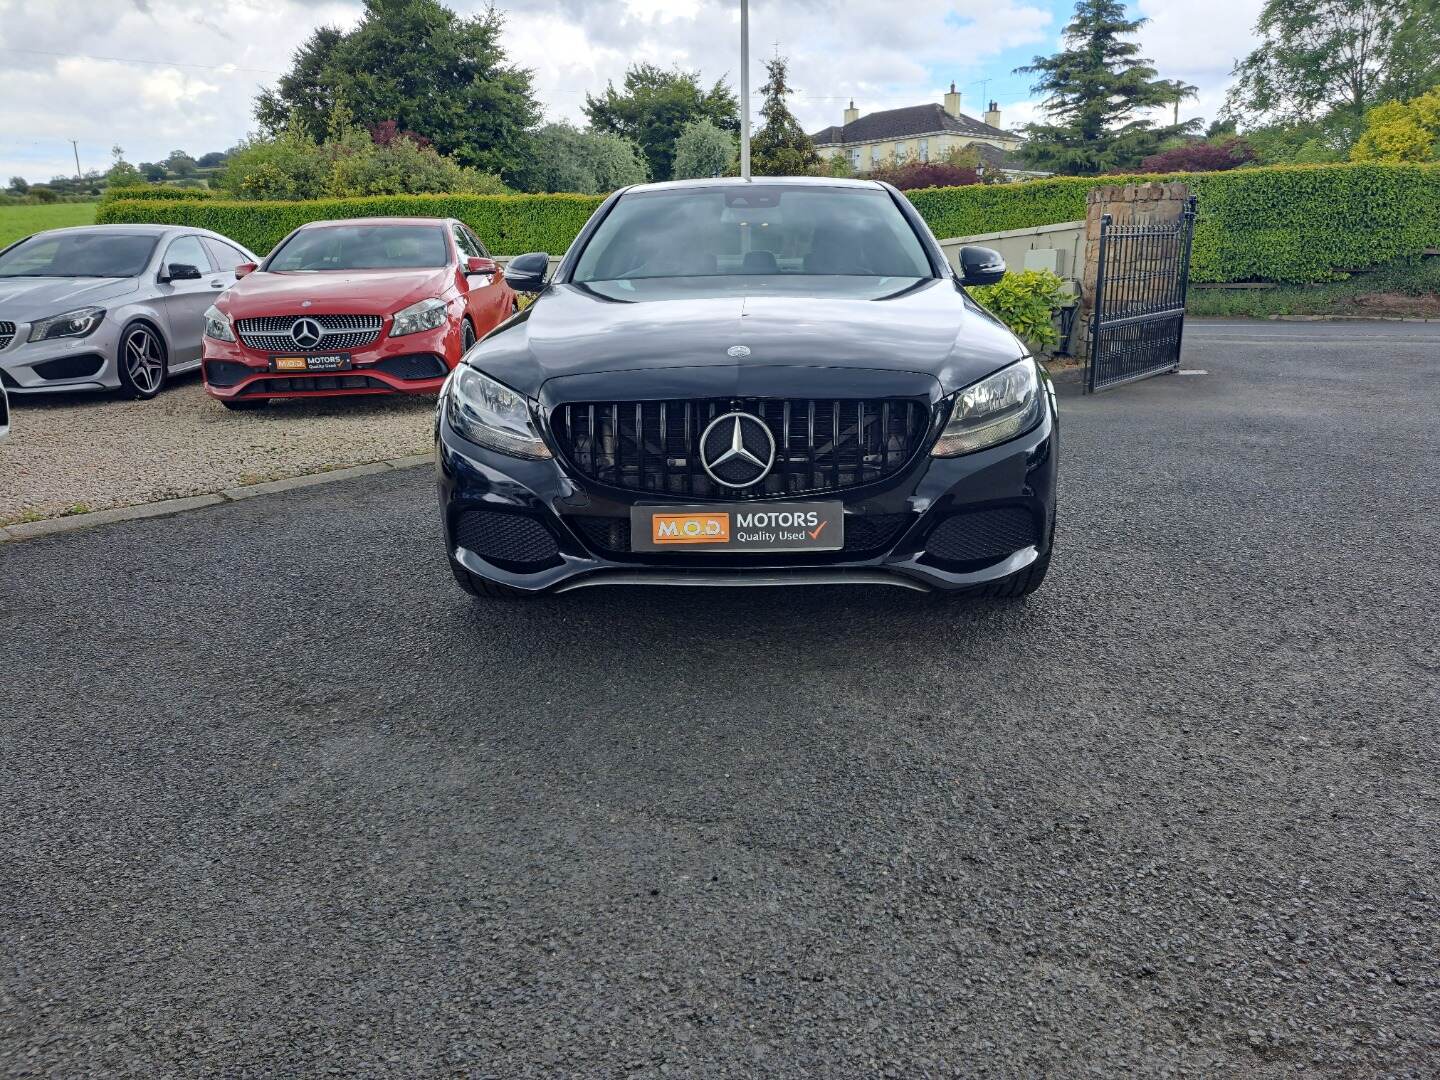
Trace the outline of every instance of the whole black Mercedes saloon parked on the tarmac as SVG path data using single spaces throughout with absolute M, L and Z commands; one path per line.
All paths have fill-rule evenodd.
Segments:
M 1056 403 L 909 200 L 873 181 L 616 192 L 441 392 L 471 593 L 897 585 L 1022 596 L 1056 528 Z

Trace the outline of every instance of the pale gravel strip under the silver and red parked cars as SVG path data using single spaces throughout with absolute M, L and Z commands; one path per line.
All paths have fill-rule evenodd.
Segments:
M 183 498 L 431 448 L 435 397 L 271 402 L 232 413 L 186 376 L 150 402 L 12 397 L 0 524 Z

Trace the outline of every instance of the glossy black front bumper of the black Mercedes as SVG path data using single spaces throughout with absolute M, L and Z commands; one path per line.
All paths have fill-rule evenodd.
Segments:
M 841 552 L 648 553 L 629 550 L 631 508 L 693 500 L 590 485 L 557 459 L 523 461 L 477 446 L 438 415 L 445 544 L 456 567 L 524 592 L 596 585 L 975 589 L 1048 554 L 1056 435 L 1054 403 L 1047 400 L 1037 428 L 999 446 L 959 458 L 922 451 L 880 484 L 811 495 L 844 504 Z

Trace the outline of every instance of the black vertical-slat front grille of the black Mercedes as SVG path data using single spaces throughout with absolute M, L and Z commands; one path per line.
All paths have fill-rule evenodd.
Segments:
M 717 484 L 700 462 L 700 436 L 717 416 L 760 418 L 775 464 L 744 488 Z M 844 491 L 903 469 L 924 441 L 927 403 L 890 397 L 717 397 L 560 405 L 550 426 L 586 478 L 626 491 L 749 500 Z

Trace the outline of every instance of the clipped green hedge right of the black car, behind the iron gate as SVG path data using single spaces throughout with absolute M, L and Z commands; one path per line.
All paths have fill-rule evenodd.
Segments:
M 937 236 L 1084 217 L 1100 184 L 1184 180 L 1198 200 L 1192 281 L 1335 281 L 1440 246 L 1440 166 L 1273 166 L 910 192 Z

